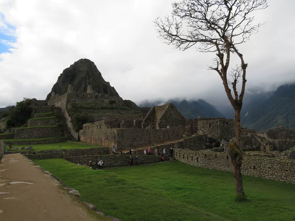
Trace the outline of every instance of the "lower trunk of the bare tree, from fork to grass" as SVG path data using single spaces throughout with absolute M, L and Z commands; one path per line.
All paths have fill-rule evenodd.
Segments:
M 241 151 L 242 142 L 241 142 L 241 135 L 242 135 L 242 127 L 241 127 L 241 118 L 240 118 L 241 108 L 237 108 L 235 110 L 235 143 L 238 147 L 238 150 Z M 240 153 L 242 155 L 242 153 Z M 237 160 L 231 156 L 232 165 L 233 165 L 233 175 L 235 177 L 236 183 L 236 194 L 244 194 L 243 189 L 243 181 L 242 181 L 242 173 L 241 173 L 241 166 L 242 160 Z

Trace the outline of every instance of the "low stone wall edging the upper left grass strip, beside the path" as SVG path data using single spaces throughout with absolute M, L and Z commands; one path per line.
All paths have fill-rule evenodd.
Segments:
M 69 158 L 84 155 L 105 155 L 109 154 L 108 147 L 97 147 L 89 149 L 73 149 L 73 150 L 44 150 L 38 152 L 26 152 L 29 159 L 51 159 L 51 158 Z

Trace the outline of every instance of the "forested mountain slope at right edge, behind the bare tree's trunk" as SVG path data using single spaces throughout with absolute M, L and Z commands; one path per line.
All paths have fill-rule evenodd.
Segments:
M 230 105 L 217 109 L 227 118 L 235 116 Z M 295 84 L 282 85 L 273 92 L 245 94 L 241 124 L 257 131 L 266 131 L 280 125 L 295 128 Z

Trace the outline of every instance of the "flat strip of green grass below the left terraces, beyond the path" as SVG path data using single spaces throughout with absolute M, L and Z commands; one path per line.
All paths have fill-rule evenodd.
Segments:
M 29 144 L 29 145 L 23 145 L 23 144 L 15 144 L 12 145 L 12 147 L 18 147 L 21 149 L 22 147 L 29 147 L 32 146 L 32 151 L 40 151 L 40 150 L 71 150 L 71 149 L 88 149 L 88 148 L 94 148 L 99 146 L 91 146 L 81 143 L 70 143 L 70 142 L 59 142 L 59 143 L 50 143 L 50 144 Z M 61 146 L 61 147 L 58 147 Z M 20 150 L 15 150 L 20 151 Z M 27 150 L 26 150 L 27 151 Z

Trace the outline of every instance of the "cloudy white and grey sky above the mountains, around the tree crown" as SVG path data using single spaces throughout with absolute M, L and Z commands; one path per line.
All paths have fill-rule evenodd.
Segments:
M 0 107 L 23 97 L 44 100 L 80 58 L 94 61 L 123 99 L 224 104 L 221 79 L 207 70 L 214 53 L 181 52 L 157 38 L 152 21 L 170 13 L 172 2 L 0 0 Z M 267 23 L 240 47 L 249 65 L 248 90 L 295 80 L 295 1 L 268 3 L 255 14 Z

